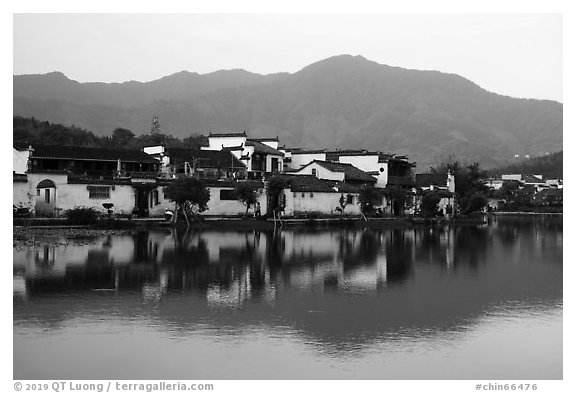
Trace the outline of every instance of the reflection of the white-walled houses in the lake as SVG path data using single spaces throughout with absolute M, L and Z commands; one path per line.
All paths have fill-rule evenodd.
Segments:
M 390 266 L 410 264 L 382 248 L 380 236 L 355 231 L 169 232 L 102 236 L 90 244 L 15 251 L 31 293 L 139 289 L 149 297 L 195 289 L 211 304 L 273 302 L 284 285 L 378 289 Z M 392 264 L 390 263 L 392 261 Z

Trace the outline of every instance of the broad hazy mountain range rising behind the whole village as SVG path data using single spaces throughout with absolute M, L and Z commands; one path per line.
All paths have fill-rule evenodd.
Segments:
M 78 83 L 14 76 L 14 115 L 148 133 L 279 136 L 288 146 L 407 154 L 427 168 L 447 154 L 484 167 L 562 149 L 562 104 L 488 92 L 458 75 L 335 56 L 294 73 L 179 72 L 151 82 Z

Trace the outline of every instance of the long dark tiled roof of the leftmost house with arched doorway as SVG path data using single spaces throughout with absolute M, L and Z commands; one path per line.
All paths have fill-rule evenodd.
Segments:
M 103 149 L 97 147 L 32 145 L 32 158 L 55 158 L 74 160 L 121 161 L 136 163 L 154 163 L 154 157 L 140 150 Z

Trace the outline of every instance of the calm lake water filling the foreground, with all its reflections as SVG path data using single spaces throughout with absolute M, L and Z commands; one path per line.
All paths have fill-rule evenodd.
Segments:
M 562 379 L 562 218 L 14 249 L 15 379 Z

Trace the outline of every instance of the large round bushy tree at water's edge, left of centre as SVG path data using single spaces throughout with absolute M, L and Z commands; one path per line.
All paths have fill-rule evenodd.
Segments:
M 199 220 L 196 212 L 202 213 L 208 210 L 210 190 L 201 180 L 194 178 L 176 179 L 164 188 L 164 195 L 176 203 L 175 220 L 178 220 L 178 212 L 181 211 L 188 226 L 190 226 L 189 215 Z

